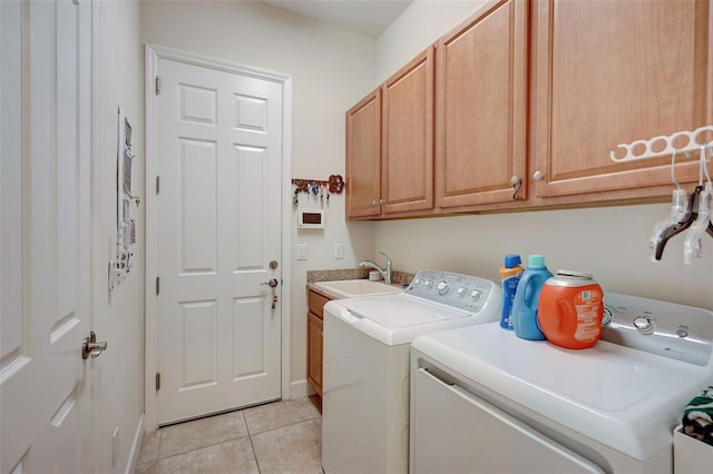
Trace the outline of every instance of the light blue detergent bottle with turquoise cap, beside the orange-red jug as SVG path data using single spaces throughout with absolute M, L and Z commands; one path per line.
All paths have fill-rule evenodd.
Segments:
M 545 335 L 537 325 L 537 302 L 547 278 L 553 274 L 545 266 L 543 255 L 530 255 L 527 267 L 515 292 L 512 326 L 515 335 L 524 339 L 543 340 Z

